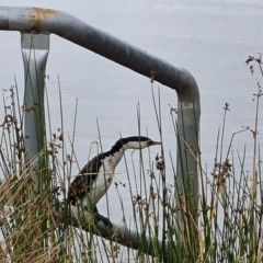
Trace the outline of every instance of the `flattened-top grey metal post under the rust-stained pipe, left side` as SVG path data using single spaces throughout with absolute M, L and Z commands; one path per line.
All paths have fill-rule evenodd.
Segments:
M 48 34 L 21 34 L 24 62 L 24 144 L 28 160 L 45 146 L 44 89 L 49 52 Z

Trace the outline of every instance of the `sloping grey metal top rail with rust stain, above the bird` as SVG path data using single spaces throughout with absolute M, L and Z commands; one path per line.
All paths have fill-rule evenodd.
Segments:
M 187 70 L 87 25 L 68 13 L 39 8 L 0 7 L 0 30 L 56 34 L 148 78 L 155 70 L 156 81 L 180 93 L 187 90 L 185 101 L 198 101 L 197 84 Z

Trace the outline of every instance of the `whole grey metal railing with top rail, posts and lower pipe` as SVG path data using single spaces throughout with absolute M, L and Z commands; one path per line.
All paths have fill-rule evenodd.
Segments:
M 192 205 L 194 209 L 198 207 L 199 91 L 194 77 L 186 69 L 163 61 L 61 11 L 0 7 L 0 30 L 21 32 L 25 72 L 24 105 L 39 105 L 34 114 L 24 112 L 24 135 L 30 138 L 25 139 L 25 147 L 30 158 L 36 156 L 44 147 L 39 130 L 45 130 L 45 68 L 49 34 L 56 34 L 147 78 L 152 78 L 155 71 L 155 81 L 176 91 L 179 194 L 184 193 L 185 178 L 190 176 L 188 190 L 194 196 Z M 36 119 L 41 122 L 36 123 Z M 193 217 L 197 222 L 197 216 L 193 214 Z M 134 249 L 139 247 L 137 232 L 113 225 L 114 231 L 122 237 L 119 243 Z M 182 226 L 183 222 L 179 218 L 176 227 L 180 229 Z M 99 224 L 99 230 L 102 237 L 110 237 L 104 225 Z

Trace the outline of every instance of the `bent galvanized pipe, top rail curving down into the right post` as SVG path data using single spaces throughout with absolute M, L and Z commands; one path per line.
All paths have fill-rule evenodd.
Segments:
M 198 204 L 199 91 L 193 76 L 79 19 L 56 10 L 0 7 L 0 30 L 30 34 L 56 34 L 112 61 L 151 78 L 178 93 L 178 174 L 179 193 L 193 194 L 193 208 Z M 197 221 L 197 217 L 195 217 Z M 181 225 L 180 220 L 180 225 Z

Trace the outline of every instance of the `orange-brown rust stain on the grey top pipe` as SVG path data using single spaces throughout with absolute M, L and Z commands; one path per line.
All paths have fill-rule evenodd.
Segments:
M 37 34 L 41 32 L 41 26 L 43 21 L 46 18 L 49 18 L 56 13 L 55 10 L 52 9 L 39 9 L 39 8 L 32 8 L 28 14 L 28 21 L 31 23 L 31 33 Z

